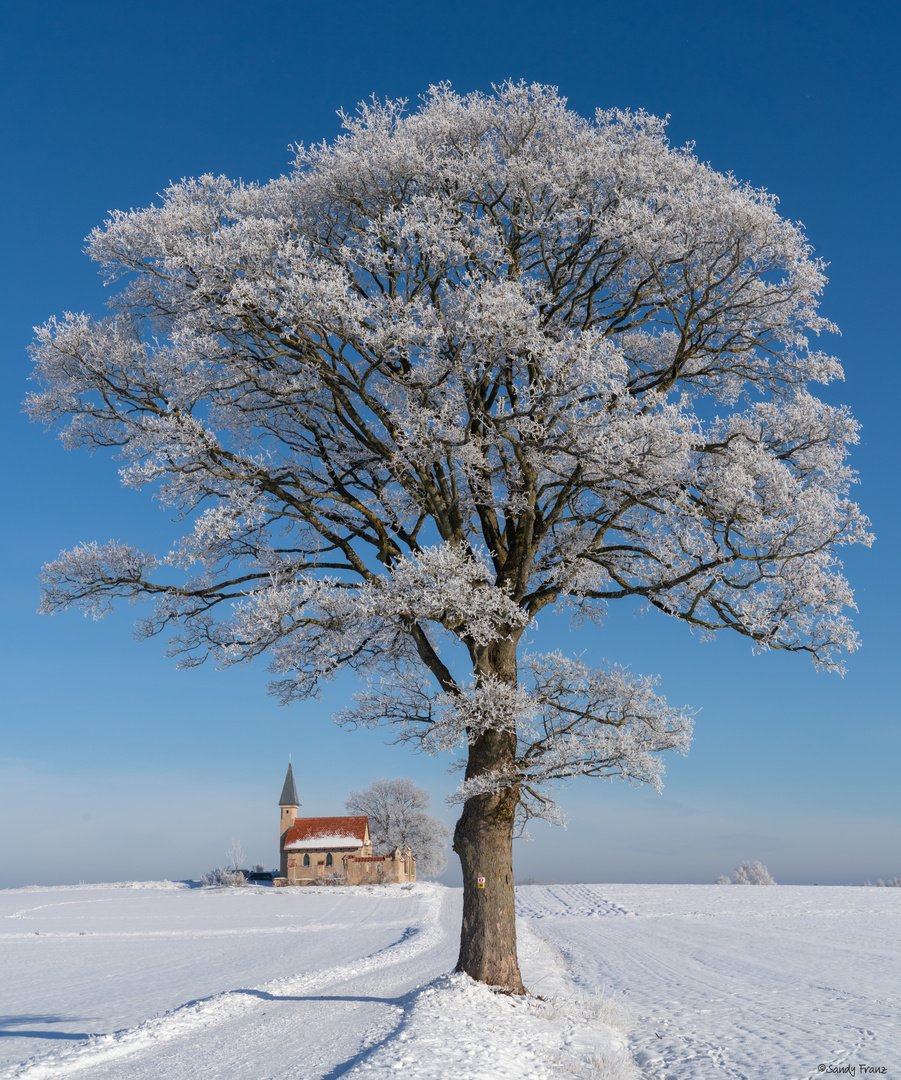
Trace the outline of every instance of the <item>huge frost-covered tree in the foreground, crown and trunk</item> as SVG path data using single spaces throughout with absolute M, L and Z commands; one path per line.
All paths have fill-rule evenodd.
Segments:
M 192 525 L 62 554 L 43 610 L 154 599 L 140 633 L 185 664 L 266 654 L 283 702 L 350 671 L 347 723 L 461 752 L 475 978 L 522 988 L 517 820 L 574 777 L 659 785 L 689 740 L 653 678 L 521 652 L 543 611 L 853 648 L 823 267 L 663 121 L 512 83 L 373 100 L 290 175 L 176 184 L 89 252 L 121 292 L 39 330 L 31 415 Z

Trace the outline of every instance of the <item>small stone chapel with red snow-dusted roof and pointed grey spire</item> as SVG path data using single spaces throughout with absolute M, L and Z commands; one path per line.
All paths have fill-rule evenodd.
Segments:
M 409 848 L 373 854 L 369 819 L 365 814 L 298 818 L 300 801 L 291 761 L 279 808 L 280 862 L 274 885 L 315 885 L 328 880 L 342 885 L 403 885 L 416 880 L 416 860 Z

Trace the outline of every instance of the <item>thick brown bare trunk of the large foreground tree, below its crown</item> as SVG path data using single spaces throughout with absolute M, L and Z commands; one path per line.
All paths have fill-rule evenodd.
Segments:
M 470 746 L 467 777 L 511 760 L 515 735 L 486 731 Z M 457 971 L 480 983 L 525 994 L 516 959 L 513 819 L 519 792 L 476 795 L 463 804 L 454 850 L 463 870 L 463 926 Z M 480 879 L 484 879 L 480 885 Z

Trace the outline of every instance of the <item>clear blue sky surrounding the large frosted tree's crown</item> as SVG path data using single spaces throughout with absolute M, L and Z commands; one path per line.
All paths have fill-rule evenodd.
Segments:
M 871 0 L 6 5 L 0 887 L 197 877 L 232 838 L 272 864 L 288 753 L 301 813 L 341 812 L 348 791 L 409 775 L 453 821 L 447 762 L 331 723 L 351 681 L 283 710 L 263 665 L 175 671 L 159 643 L 133 642 L 127 608 L 102 623 L 37 616 L 39 567 L 60 549 L 163 549 L 174 526 L 119 487 L 115 462 L 64 451 L 19 409 L 31 327 L 103 309 L 82 241 L 107 212 L 204 172 L 266 180 L 288 167 L 290 144 L 332 138 L 336 110 L 372 93 L 415 103 L 442 80 L 467 92 L 507 78 L 553 83 L 583 114 L 669 113 L 673 143 L 694 140 L 805 224 L 831 264 L 823 311 L 847 373 L 822 393 L 863 424 L 857 497 L 878 538 L 846 561 L 864 645 L 844 679 L 753 657 L 743 640 L 701 644 L 631 608 L 578 633 L 546 621 L 542 646 L 657 673 L 672 703 L 700 713 L 662 795 L 573 786 L 568 828 L 519 843 L 519 876 L 703 882 L 743 859 L 785 882 L 901 874 L 899 29 L 899 9 Z M 447 880 L 459 880 L 453 862 Z

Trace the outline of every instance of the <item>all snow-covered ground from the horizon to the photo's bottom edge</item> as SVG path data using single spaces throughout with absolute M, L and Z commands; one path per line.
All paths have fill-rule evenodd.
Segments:
M 436 885 L 0 891 L 0 1078 L 901 1078 L 901 890 L 517 904 L 543 1000 L 446 974 L 460 892 Z

